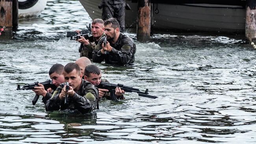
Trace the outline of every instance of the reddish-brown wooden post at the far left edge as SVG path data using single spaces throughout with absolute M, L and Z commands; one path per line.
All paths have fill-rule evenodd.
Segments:
M 0 28 L 4 28 L 1 32 L 0 39 L 12 38 L 13 27 L 13 1 L 12 0 L 0 0 Z

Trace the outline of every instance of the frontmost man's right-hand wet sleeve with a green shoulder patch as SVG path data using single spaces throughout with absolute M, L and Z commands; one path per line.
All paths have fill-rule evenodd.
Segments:
M 77 93 L 73 96 L 73 101 L 76 109 L 81 113 L 91 113 L 96 109 L 98 104 L 98 89 L 96 88 L 87 88 L 85 89 L 85 95 L 80 96 Z

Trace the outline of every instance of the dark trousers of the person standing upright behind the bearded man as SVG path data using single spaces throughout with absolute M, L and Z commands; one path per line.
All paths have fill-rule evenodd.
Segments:
M 105 4 L 102 9 L 102 19 L 108 20 L 109 18 L 117 18 L 120 31 L 125 29 L 125 3 L 124 4 Z

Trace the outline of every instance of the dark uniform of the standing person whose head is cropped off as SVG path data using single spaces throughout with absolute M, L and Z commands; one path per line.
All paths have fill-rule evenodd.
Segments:
M 99 8 L 102 9 L 102 20 L 117 18 L 120 25 L 120 31 L 125 29 L 125 0 L 101 0 Z

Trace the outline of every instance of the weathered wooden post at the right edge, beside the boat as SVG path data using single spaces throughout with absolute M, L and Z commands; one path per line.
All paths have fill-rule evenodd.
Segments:
M 256 0 L 246 0 L 245 37 L 256 39 Z

